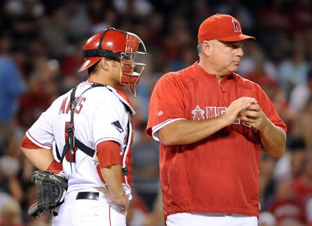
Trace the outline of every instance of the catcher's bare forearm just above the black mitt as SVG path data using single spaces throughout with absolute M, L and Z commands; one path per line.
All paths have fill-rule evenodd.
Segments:
M 21 151 L 39 170 L 48 169 L 51 162 L 54 161 L 52 149 L 25 149 L 21 147 Z

